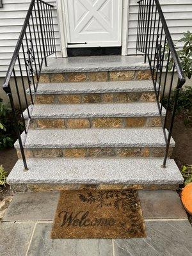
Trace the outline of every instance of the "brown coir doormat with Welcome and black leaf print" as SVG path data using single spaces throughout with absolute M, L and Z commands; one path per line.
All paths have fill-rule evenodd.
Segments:
M 137 191 L 62 191 L 51 237 L 146 237 Z

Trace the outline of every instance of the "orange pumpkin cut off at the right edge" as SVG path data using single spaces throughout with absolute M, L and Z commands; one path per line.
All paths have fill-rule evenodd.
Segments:
M 192 182 L 182 189 L 181 200 L 186 211 L 192 214 Z

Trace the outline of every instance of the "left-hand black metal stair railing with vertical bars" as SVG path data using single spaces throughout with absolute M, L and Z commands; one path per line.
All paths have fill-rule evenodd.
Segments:
M 26 125 L 23 111 L 26 109 L 28 120 L 30 120 L 42 65 L 45 63 L 45 66 L 47 66 L 47 57 L 56 54 L 53 7 L 42 0 L 31 1 L 3 84 L 3 89 L 10 99 L 15 118 L 15 130 L 17 131 L 20 154 L 25 170 L 28 170 L 28 166 L 24 154 L 24 138 L 20 136 L 19 122 L 22 122 L 24 132 L 27 134 L 28 125 Z M 11 81 L 13 82 L 12 85 Z M 12 95 L 13 86 L 17 93 L 16 99 Z M 27 90 L 28 93 L 26 93 Z M 23 99 L 24 108 L 22 107 Z M 19 117 L 16 114 L 17 102 Z

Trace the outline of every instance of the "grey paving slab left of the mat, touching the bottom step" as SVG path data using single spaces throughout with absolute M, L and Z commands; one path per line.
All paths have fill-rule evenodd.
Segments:
M 59 196 L 58 192 L 15 193 L 3 221 L 53 220 Z

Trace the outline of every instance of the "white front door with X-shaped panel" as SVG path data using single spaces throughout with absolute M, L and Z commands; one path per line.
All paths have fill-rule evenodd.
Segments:
M 64 3 L 67 47 L 121 45 L 122 0 L 64 0 Z

